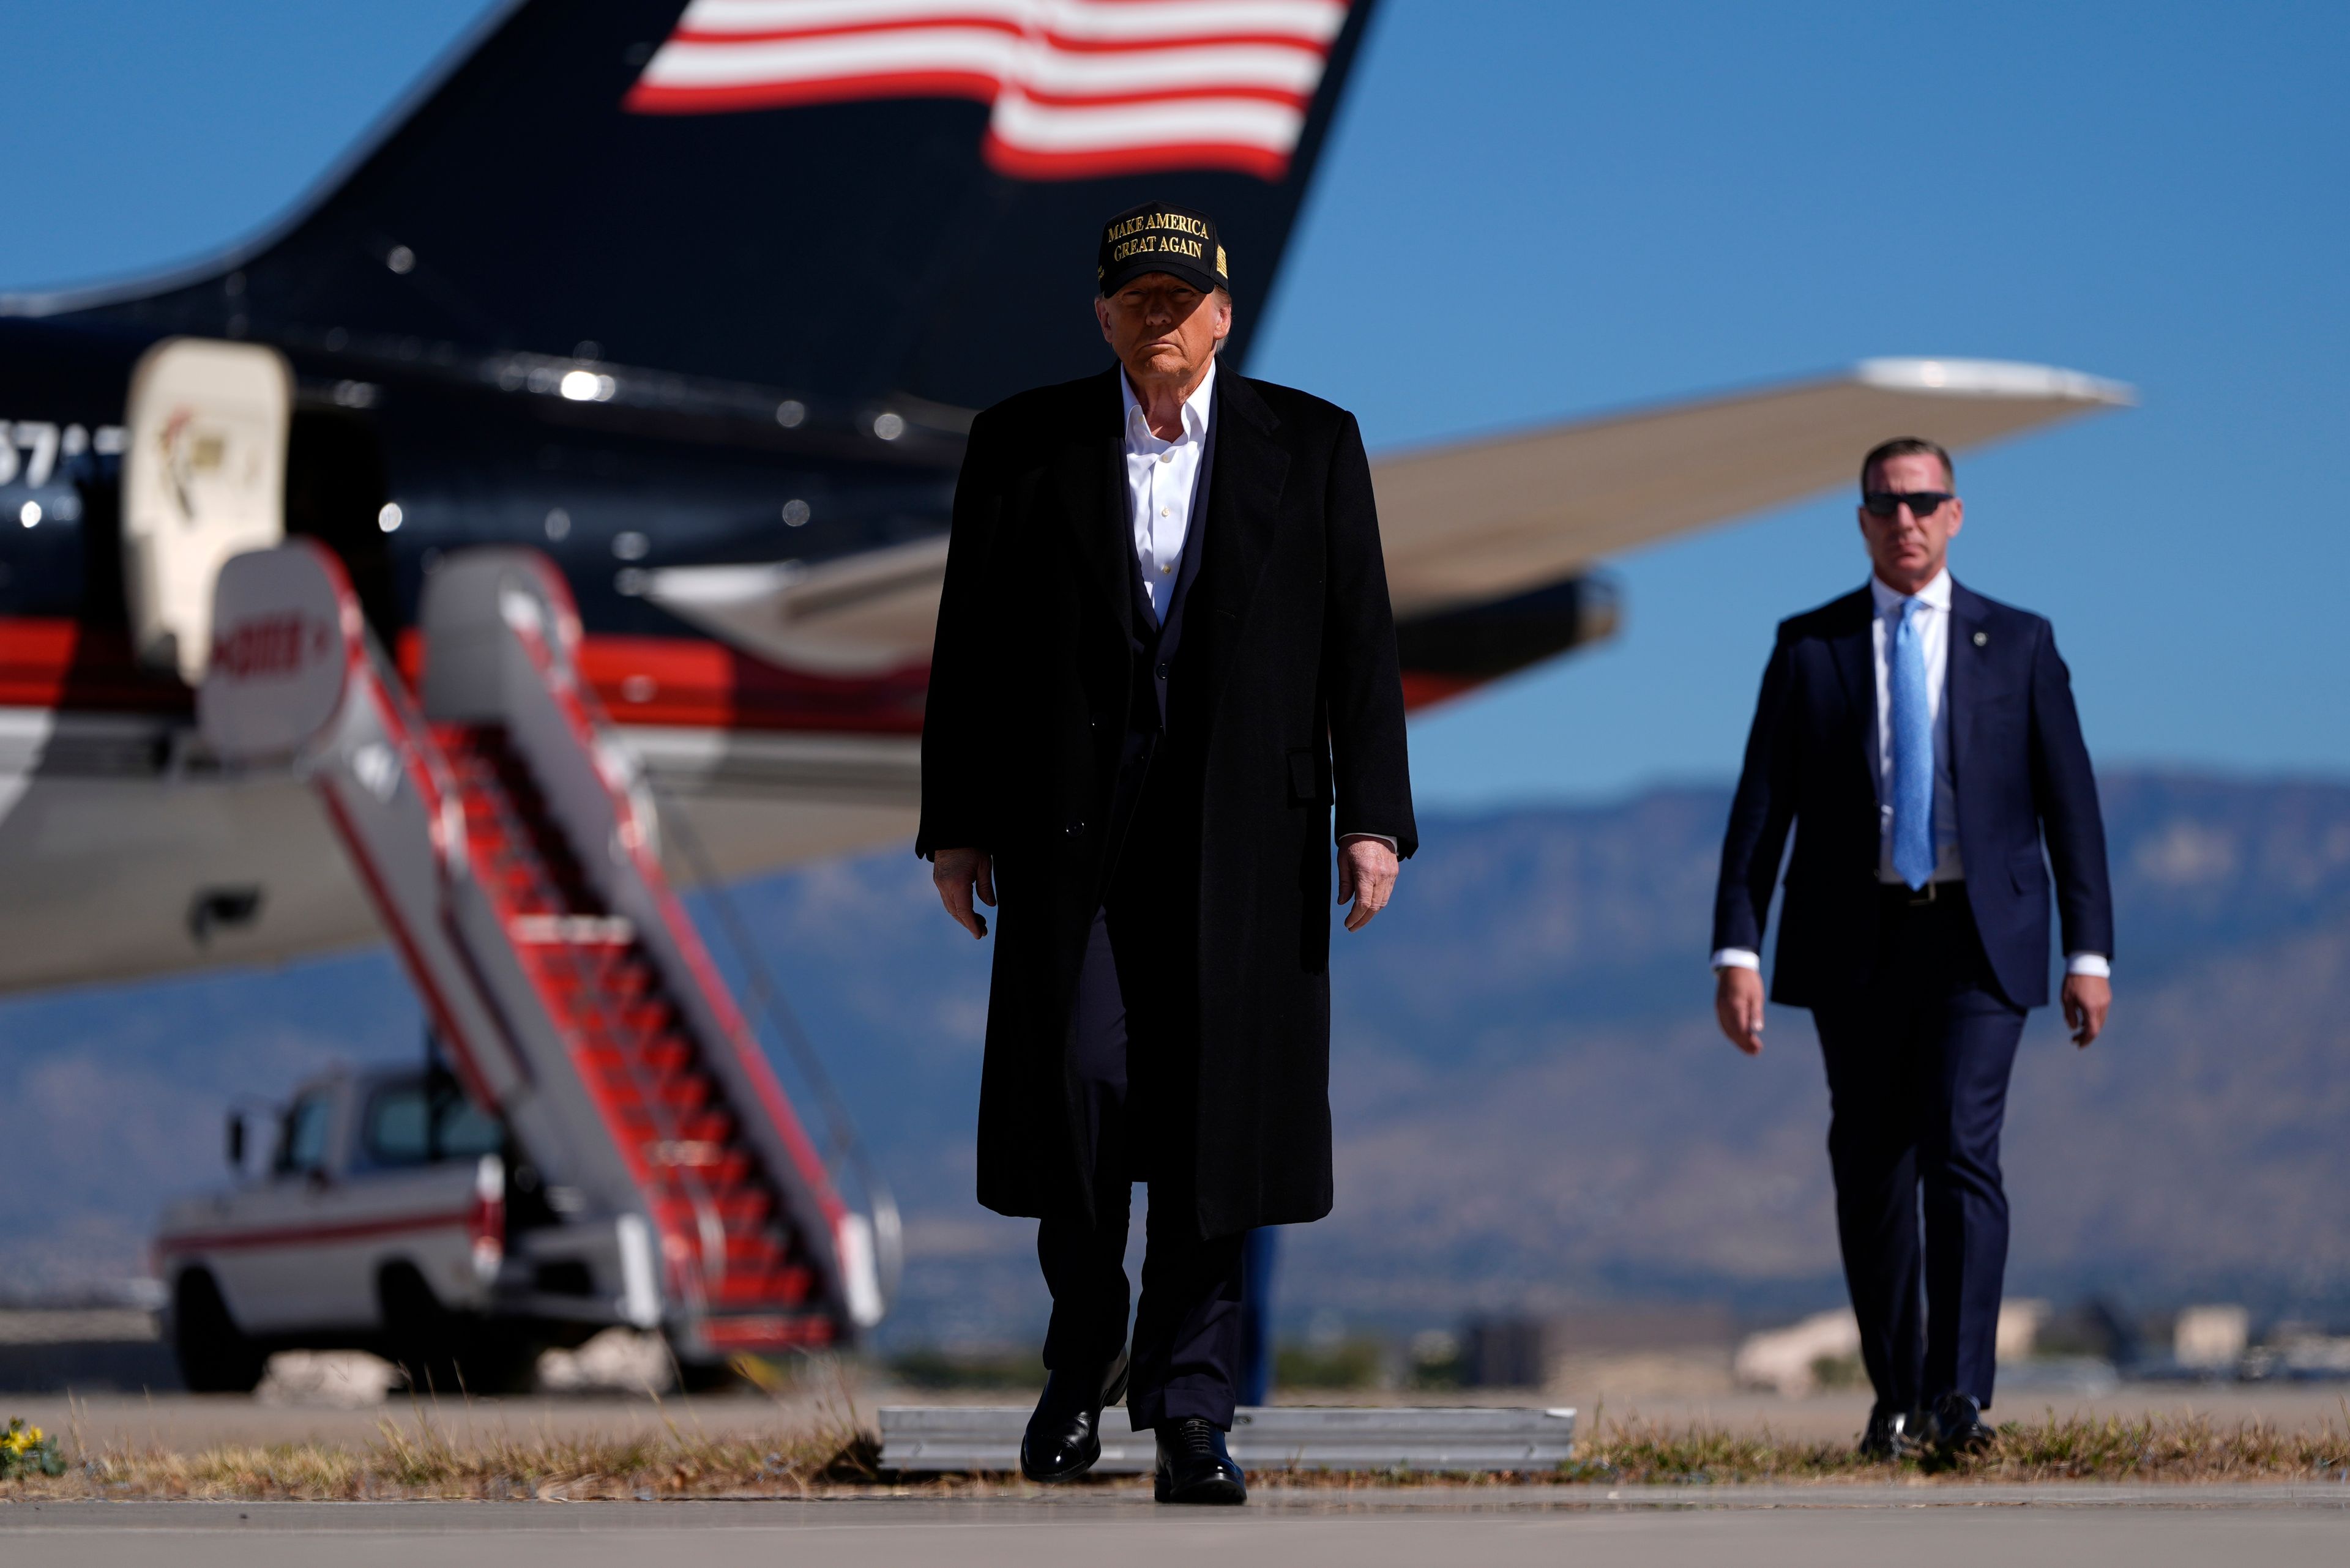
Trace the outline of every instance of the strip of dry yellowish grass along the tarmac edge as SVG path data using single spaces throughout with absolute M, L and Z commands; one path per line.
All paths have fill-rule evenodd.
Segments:
M 707 1436 L 670 1422 L 625 1439 L 555 1434 L 454 1436 L 430 1410 L 378 1422 L 374 1441 L 164 1448 L 85 1448 L 66 1441 L 63 1476 L 0 1481 L 0 1502 L 33 1497 L 204 1500 L 665 1500 L 808 1497 L 888 1486 L 877 1443 L 853 1420 L 801 1422 L 766 1436 Z M 1260 1474 L 1260 1481 L 1274 1481 Z M 996 1490 L 1003 1479 L 942 1476 L 891 1486 L 921 1495 Z M 1408 1472 L 1292 1472 L 1288 1486 L 1734 1486 L 1734 1483 L 1967 1483 L 1967 1481 L 2350 1481 L 2350 1410 L 2341 1422 L 2284 1429 L 2221 1427 L 2204 1418 L 2044 1418 L 2007 1422 L 1998 1446 L 1958 1465 L 1868 1465 L 1849 1443 L 1786 1441 L 1770 1429 L 1610 1422 L 1596 1415 L 1577 1458 L 1556 1472 L 1431 1476 Z M 1133 1486 L 1133 1481 L 1102 1481 Z M 1013 1486 L 1020 1486 L 1013 1481 Z

